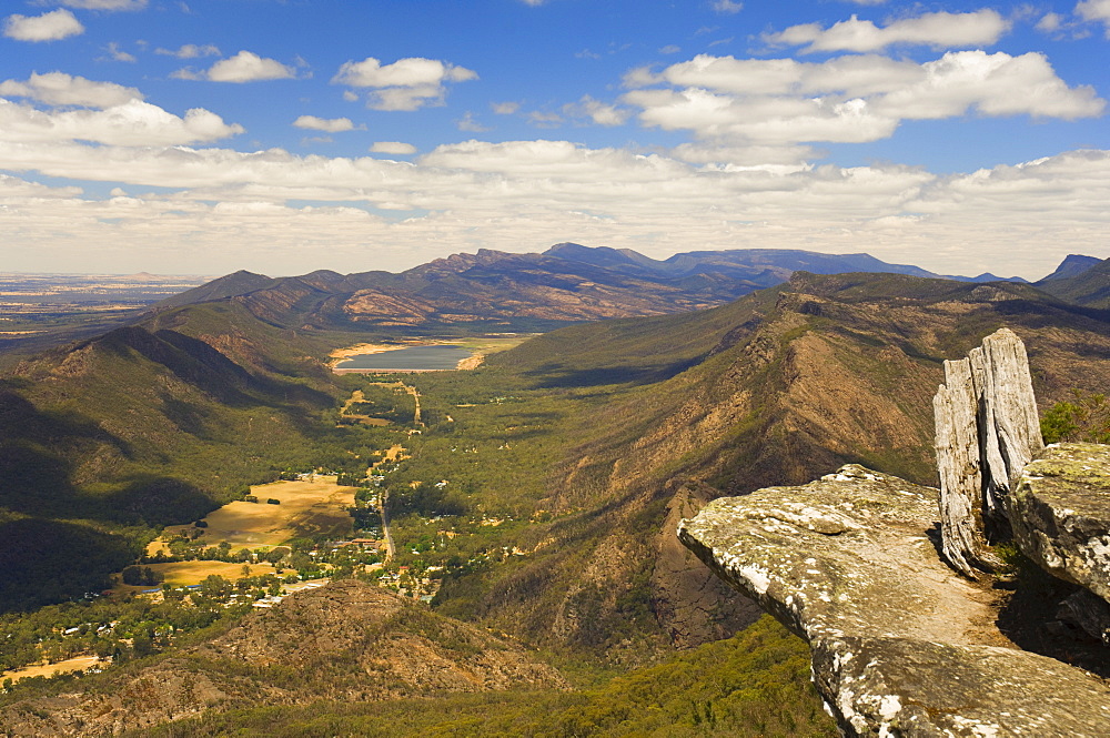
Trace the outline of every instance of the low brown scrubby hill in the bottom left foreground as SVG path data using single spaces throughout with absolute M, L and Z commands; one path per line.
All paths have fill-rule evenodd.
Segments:
M 101 675 L 81 691 L 10 705 L 0 726 L 20 736 L 114 734 L 259 704 L 509 688 L 566 683 L 516 644 L 349 579 L 251 613 L 199 646 Z

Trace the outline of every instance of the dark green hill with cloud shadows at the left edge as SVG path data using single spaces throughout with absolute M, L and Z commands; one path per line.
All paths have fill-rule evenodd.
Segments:
M 102 589 L 152 527 L 334 455 L 320 415 L 340 391 L 312 346 L 208 303 L 6 373 L 0 536 L 19 545 L 4 550 L 0 608 Z

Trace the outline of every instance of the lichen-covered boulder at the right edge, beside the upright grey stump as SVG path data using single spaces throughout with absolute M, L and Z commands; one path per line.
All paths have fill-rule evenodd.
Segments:
M 1010 525 L 1026 556 L 1110 601 L 1110 446 L 1038 454 L 1013 492 Z

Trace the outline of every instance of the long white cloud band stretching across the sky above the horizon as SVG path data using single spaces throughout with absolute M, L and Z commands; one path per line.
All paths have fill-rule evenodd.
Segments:
M 132 193 L 105 201 L 0 178 L 0 230 L 21 246 L 11 250 L 9 269 L 21 267 L 14 260 L 22 254 L 49 254 L 90 270 L 120 260 L 134 270 L 181 264 L 183 272 L 200 263 L 213 271 L 397 270 L 452 251 L 536 251 L 568 237 L 657 256 L 767 243 L 852 253 L 866 244 L 880 259 L 945 273 L 1028 277 L 1051 271 L 1077 242 L 1110 256 L 1107 151 L 938 178 L 787 159 L 777 166 L 692 165 L 566 141 L 467 141 L 415 162 L 0 141 L 0 169 L 124 182 Z M 147 185 L 180 191 L 141 194 Z M 397 218 L 334 204 L 292 208 L 289 200 L 347 202 Z

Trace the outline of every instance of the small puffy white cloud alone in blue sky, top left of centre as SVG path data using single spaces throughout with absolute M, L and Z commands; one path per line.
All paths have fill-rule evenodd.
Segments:
M 473 70 L 437 59 L 412 57 L 382 64 L 367 57 L 359 62 L 345 62 L 332 82 L 370 89 L 366 105 L 374 110 L 412 111 L 443 104 L 447 82 L 465 82 L 477 77 Z

